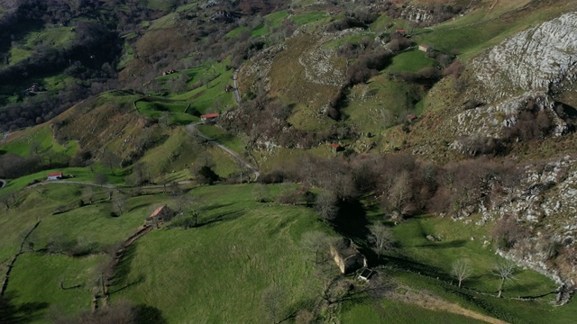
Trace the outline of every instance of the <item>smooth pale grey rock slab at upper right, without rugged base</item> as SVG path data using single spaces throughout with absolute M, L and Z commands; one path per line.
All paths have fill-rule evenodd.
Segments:
M 522 31 L 472 61 L 469 90 L 485 103 L 527 91 L 557 92 L 577 80 L 577 13 Z

